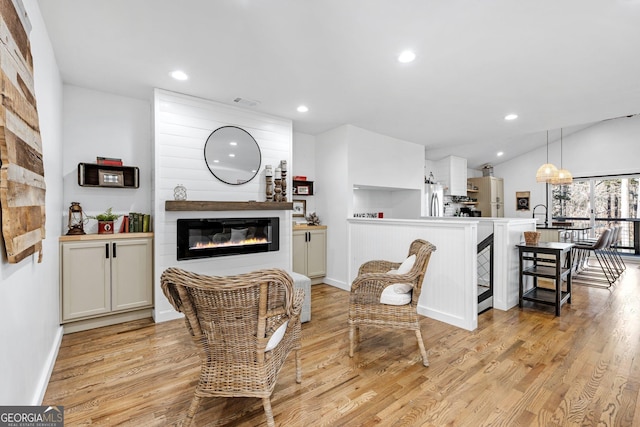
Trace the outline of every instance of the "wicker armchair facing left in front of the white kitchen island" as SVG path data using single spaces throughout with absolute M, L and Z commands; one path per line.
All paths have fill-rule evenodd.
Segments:
M 400 262 L 368 261 L 358 271 L 358 277 L 351 284 L 349 300 L 349 356 L 353 357 L 355 343 L 359 339 L 360 326 L 377 328 L 408 329 L 415 331 L 422 354 L 422 363 L 429 366 L 427 352 L 422 341 L 418 323 L 417 305 L 422 288 L 422 280 L 427 271 L 431 253 L 436 247 L 424 240 L 414 240 L 409 248 L 409 256 L 416 255 L 413 267 L 405 274 L 391 274 Z M 406 283 L 413 286 L 410 302 L 404 305 L 388 305 L 380 302 L 382 292 L 388 286 Z M 407 296 L 409 298 L 409 296 Z

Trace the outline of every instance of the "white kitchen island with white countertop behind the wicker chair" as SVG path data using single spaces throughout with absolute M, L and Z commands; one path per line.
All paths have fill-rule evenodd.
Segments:
M 366 261 L 402 261 L 414 239 L 436 246 L 418 301 L 418 313 L 467 330 L 478 326 L 477 245 L 494 234 L 493 307 L 518 304 L 518 250 L 535 220 L 519 218 L 348 219 L 349 283 Z

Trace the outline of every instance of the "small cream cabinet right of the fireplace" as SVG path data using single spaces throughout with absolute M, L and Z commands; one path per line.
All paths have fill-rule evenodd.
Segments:
M 293 228 L 293 271 L 309 277 L 312 283 L 321 282 L 327 273 L 326 226 Z

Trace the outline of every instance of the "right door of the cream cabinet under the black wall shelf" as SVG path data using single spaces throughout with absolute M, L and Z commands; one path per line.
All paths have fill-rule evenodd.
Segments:
M 151 239 L 111 243 L 112 310 L 128 310 L 152 304 Z

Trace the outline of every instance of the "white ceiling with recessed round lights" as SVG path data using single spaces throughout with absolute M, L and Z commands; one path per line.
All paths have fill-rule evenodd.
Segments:
M 142 99 L 154 87 L 248 98 L 297 132 L 348 123 L 469 167 L 542 146 L 548 129 L 640 113 L 640 0 L 39 5 L 65 83 Z M 413 63 L 396 61 L 404 49 Z M 173 80 L 174 69 L 190 79 Z

